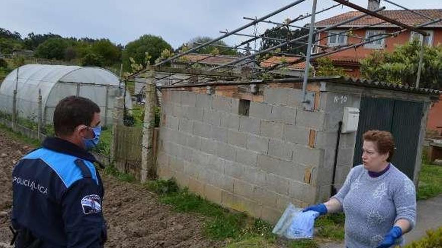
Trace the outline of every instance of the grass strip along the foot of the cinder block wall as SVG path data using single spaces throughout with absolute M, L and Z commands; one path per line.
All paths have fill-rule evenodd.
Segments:
M 180 189 L 173 179 L 155 180 L 146 183 L 146 187 L 156 192 L 162 203 L 169 204 L 175 211 L 201 214 L 207 217 L 203 225 L 203 234 L 214 240 L 230 240 L 226 248 L 240 247 L 279 247 L 278 237 L 272 233 L 272 225 L 262 219 L 254 219 L 245 213 L 232 212 L 217 204 Z M 344 215 L 332 214 L 318 218 L 317 226 L 320 237 L 342 240 L 344 238 Z M 315 240 L 285 240 L 291 248 L 317 248 Z

